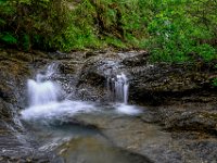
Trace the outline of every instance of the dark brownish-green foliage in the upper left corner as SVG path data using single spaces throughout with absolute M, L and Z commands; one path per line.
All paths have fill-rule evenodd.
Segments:
M 67 26 L 64 2 L 0 0 L 0 41 L 24 50 L 54 48 L 53 36 Z

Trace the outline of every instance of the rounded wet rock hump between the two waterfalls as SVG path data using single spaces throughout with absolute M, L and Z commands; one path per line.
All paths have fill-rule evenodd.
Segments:
M 88 95 L 89 99 L 85 100 L 104 100 L 107 92 L 107 77 L 117 73 L 115 67 L 118 66 L 118 58 L 114 53 L 89 58 L 79 71 L 77 93 L 80 95 L 82 90 L 82 95 Z

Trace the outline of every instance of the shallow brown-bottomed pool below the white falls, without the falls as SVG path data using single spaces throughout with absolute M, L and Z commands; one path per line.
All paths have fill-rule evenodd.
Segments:
M 150 159 L 128 148 L 139 146 L 141 138 L 145 140 L 143 145 L 150 145 L 168 137 L 153 125 L 143 125 L 142 130 L 141 127 L 135 128 L 138 122 L 137 117 L 101 111 L 79 113 L 64 121 L 31 121 L 26 127 L 39 142 L 40 151 L 55 151 L 66 163 L 149 163 Z M 138 133 L 140 136 L 130 138 Z

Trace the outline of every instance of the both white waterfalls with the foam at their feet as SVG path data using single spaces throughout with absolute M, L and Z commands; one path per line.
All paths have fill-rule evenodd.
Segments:
M 64 120 L 78 113 L 97 111 L 93 103 L 62 99 L 61 86 L 51 80 L 55 68 L 56 64 L 51 64 L 46 72 L 39 73 L 35 80 L 27 80 L 29 106 L 21 112 L 23 120 Z M 135 115 L 140 113 L 136 106 L 127 104 L 129 84 L 126 75 L 122 73 L 112 82 L 115 91 L 113 96 L 118 103 L 111 106 L 120 114 Z M 98 108 L 99 110 L 102 109 Z

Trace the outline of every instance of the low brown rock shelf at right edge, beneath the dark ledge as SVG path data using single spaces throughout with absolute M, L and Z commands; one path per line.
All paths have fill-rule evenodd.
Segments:
M 174 131 L 200 131 L 216 135 L 217 112 L 213 104 L 178 104 L 158 106 L 155 117 L 166 129 Z

